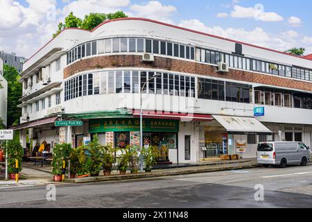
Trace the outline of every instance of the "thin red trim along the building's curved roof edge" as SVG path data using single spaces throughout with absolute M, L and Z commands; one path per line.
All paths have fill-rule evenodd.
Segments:
M 306 57 L 301 57 L 301 56 L 295 56 L 295 55 L 292 55 L 290 53 L 285 53 L 285 52 L 282 52 L 282 51 L 277 51 L 277 50 L 274 50 L 274 49 L 268 49 L 266 47 L 263 47 L 263 46 L 257 46 L 257 45 L 254 45 L 254 44 L 249 44 L 249 43 L 246 43 L 246 42 L 241 42 L 241 41 L 237 41 L 237 40 L 231 40 L 231 39 L 228 39 L 226 37 L 220 37 L 220 36 L 217 36 L 217 35 L 211 35 L 211 34 L 208 34 L 208 33 L 202 33 L 200 31 L 194 31 L 192 29 L 189 29 L 189 28 L 182 28 L 180 26 L 174 26 L 174 25 L 171 25 L 171 24 L 166 24 L 164 22 L 158 22 L 158 21 L 155 21 L 155 20 L 152 20 L 152 19 L 144 19 L 144 18 L 135 18 L 135 17 L 128 17 L 128 18 L 120 18 L 120 19 L 112 19 L 112 20 L 108 20 L 108 21 L 105 21 L 105 22 L 102 22 L 101 24 L 99 24 L 98 26 L 96 26 L 96 28 L 92 29 L 92 31 L 89 31 L 89 30 L 86 30 L 86 29 L 83 29 L 83 28 L 64 28 L 62 31 L 60 31 L 60 33 L 62 33 L 63 31 L 67 30 L 67 29 L 78 29 L 78 30 L 82 30 L 82 31 L 89 31 L 89 32 L 93 32 L 95 31 L 97 28 L 103 26 L 104 24 L 107 24 L 107 23 L 110 23 L 110 22 L 118 22 L 118 21 L 127 21 L 127 20 L 137 20 L 137 21 L 145 21 L 145 22 L 152 22 L 152 23 L 155 23 L 155 24 L 160 24 L 160 25 L 163 25 L 163 26 L 168 26 L 168 27 L 171 27 L 171 28 L 177 28 L 177 29 L 180 29 L 180 30 L 183 30 L 183 31 L 189 31 L 191 33 L 196 33 L 196 34 L 200 34 L 200 35 L 206 35 L 206 36 L 209 36 L 209 37 L 214 37 L 214 38 L 217 38 L 217 39 L 220 39 L 220 40 L 227 40 L 229 42 L 235 42 L 235 43 L 239 43 L 239 44 L 244 44 L 246 46 L 252 46 L 254 48 L 258 48 L 258 49 L 263 49 L 263 50 L 266 50 L 266 51 L 272 51 L 272 52 L 275 52 L 275 53 L 280 53 L 280 54 L 284 54 L 286 56 L 293 56 L 293 57 L 296 57 L 296 58 L 302 58 L 302 59 L 305 59 L 305 60 L 311 60 L 309 58 L 306 58 Z M 58 33 L 58 35 L 60 35 L 60 33 Z M 58 35 L 56 35 L 55 37 L 57 37 Z M 55 37 L 52 39 L 54 40 Z M 46 43 L 44 46 L 46 46 L 47 44 L 49 44 L 52 40 L 50 40 L 48 43 Z M 37 54 L 41 49 L 44 48 L 44 46 L 42 46 L 42 48 L 40 48 L 35 54 Z M 35 54 L 33 56 L 35 56 Z M 31 56 L 31 58 L 33 58 L 33 56 Z M 28 60 L 30 60 L 31 58 L 29 58 Z M 26 61 L 27 62 L 27 61 Z M 25 62 L 25 63 L 26 63 Z

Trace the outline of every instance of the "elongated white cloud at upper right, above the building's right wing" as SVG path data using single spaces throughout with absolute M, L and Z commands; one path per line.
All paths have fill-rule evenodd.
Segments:
M 245 8 L 243 6 L 234 6 L 234 10 L 231 12 L 231 17 L 234 18 L 254 18 L 263 22 L 280 22 L 284 18 L 278 15 L 276 12 L 264 12 L 263 6 L 257 4 L 254 8 Z

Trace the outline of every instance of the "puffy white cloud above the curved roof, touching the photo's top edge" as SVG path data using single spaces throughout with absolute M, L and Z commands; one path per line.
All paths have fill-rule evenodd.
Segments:
M 163 6 L 159 1 L 148 1 L 145 5 L 130 6 L 135 17 L 155 19 L 161 22 L 173 24 L 171 16 L 177 11 L 174 6 Z

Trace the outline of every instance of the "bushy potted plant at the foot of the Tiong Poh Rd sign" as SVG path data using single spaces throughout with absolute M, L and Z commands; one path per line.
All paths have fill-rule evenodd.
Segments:
M 71 153 L 71 144 L 57 144 L 53 148 L 53 160 L 51 162 L 53 180 L 62 181 L 63 161 L 65 161 L 65 170 L 68 167 L 69 155 Z

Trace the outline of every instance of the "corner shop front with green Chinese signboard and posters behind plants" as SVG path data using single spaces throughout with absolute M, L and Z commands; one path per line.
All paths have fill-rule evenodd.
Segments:
M 98 135 L 102 145 L 115 148 L 140 146 L 140 121 L 137 118 L 92 119 L 89 121 L 91 137 Z M 158 153 L 158 163 L 171 162 L 169 150 L 178 148 L 179 121 L 173 119 L 144 119 L 144 147 L 152 146 Z

